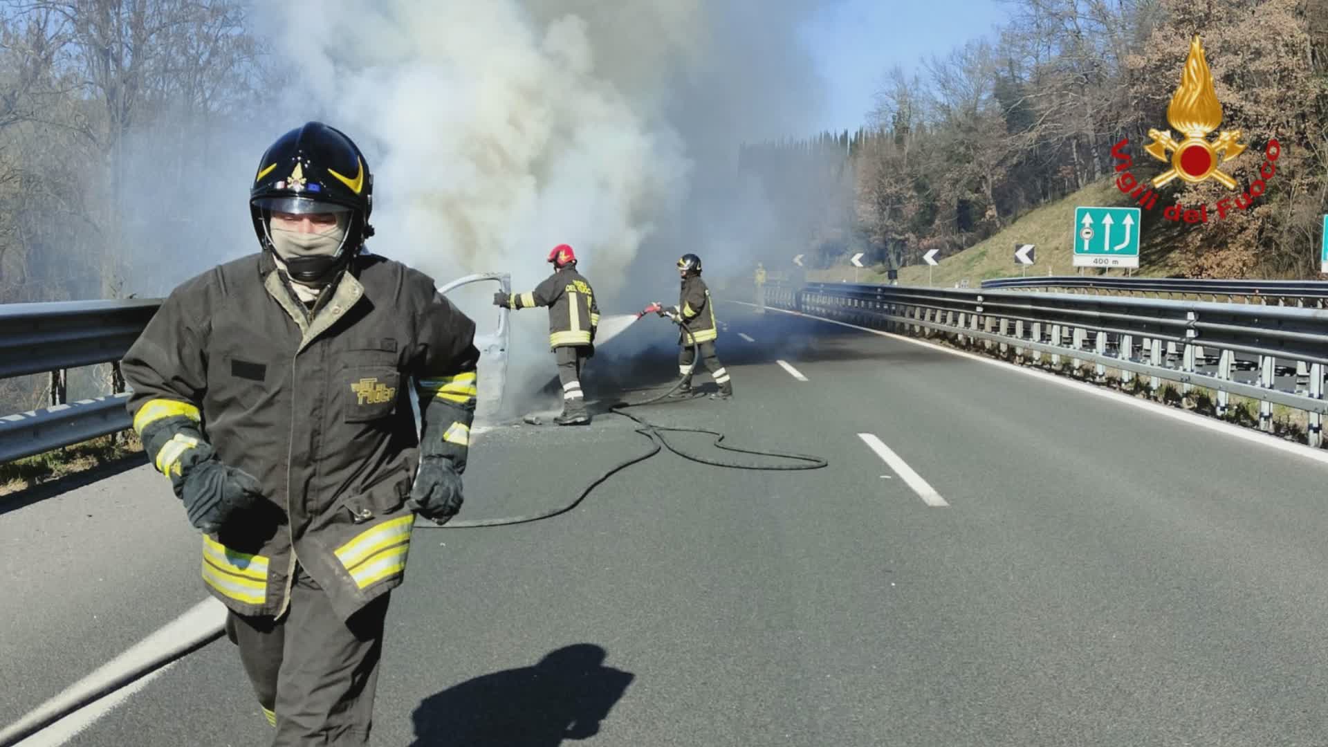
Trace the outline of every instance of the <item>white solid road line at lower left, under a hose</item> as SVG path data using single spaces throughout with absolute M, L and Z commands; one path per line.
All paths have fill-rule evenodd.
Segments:
M 58 712 L 66 706 L 90 696 L 112 681 L 157 659 L 162 651 L 186 649 L 216 635 L 224 625 L 226 606 L 212 597 L 203 599 L 185 614 L 135 643 L 131 649 L 105 663 L 97 671 L 80 679 L 74 685 L 70 685 L 60 695 L 46 700 L 4 731 L 0 731 L 0 742 L 7 742 L 7 738 L 20 731 L 25 731 L 29 724 L 40 723 L 50 714 Z M 58 744 L 64 744 L 69 739 L 73 739 L 78 732 L 92 726 L 93 722 L 109 714 L 116 708 L 116 706 L 127 700 L 130 695 L 146 687 L 149 682 L 159 677 L 171 666 L 174 666 L 174 662 L 145 674 L 109 695 L 93 700 L 82 708 L 24 739 L 23 742 L 19 742 L 15 747 L 56 747 Z

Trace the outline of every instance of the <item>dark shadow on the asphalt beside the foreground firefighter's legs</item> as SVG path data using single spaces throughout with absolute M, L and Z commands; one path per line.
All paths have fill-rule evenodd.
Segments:
M 537 665 L 477 677 L 416 708 L 412 747 L 555 747 L 599 734 L 636 675 L 604 666 L 594 643 L 551 651 Z

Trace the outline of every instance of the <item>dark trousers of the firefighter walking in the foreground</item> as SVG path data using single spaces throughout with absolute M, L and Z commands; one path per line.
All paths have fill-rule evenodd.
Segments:
M 341 622 L 328 595 L 296 565 L 282 619 L 227 615 L 226 635 L 239 647 L 263 714 L 276 727 L 272 747 L 369 743 L 390 595 Z

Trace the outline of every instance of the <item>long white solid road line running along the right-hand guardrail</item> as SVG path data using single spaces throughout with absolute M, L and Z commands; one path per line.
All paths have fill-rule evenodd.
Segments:
M 742 306 L 754 306 L 754 304 L 745 303 L 745 302 L 741 302 L 741 300 L 730 300 L 729 303 L 738 303 L 738 304 L 742 304 Z M 1081 392 L 1081 393 L 1086 393 L 1086 395 L 1093 395 L 1093 396 L 1109 399 L 1109 400 L 1116 401 L 1117 404 L 1126 404 L 1126 405 L 1130 405 L 1130 407 L 1137 407 L 1137 408 L 1143 409 L 1146 412 L 1151 412 L 1153 415 L 1161 415 L 1163 417 L 1170 417 L 1173 420 L 1179 420 L 1179 421 L 1185 423 L 1186 425 L 1195 425 L 1195 427 L 1199 427 L 1199 428 L 1204 428 L 1204 429 L 1212 431 L 1215 433 L 1223 433 L 1226 436 L 1231 436 L 1232 439 L 1240 439 L 1240 440 L 1248 441 L 1251 444 L 1259 444 L 1259 445 L 1263 445 L 1263 447 L 1268 447 L 1271 449 L 1278 449 L 1280 452 L 1284 452 L 1284 453 L 1288 453 L 1288 455 L 1292 455 L 1292 456 L 1299 456 L 1299 457 L 1303 457 L 1303 459 L 1309 459 L 1309 460 L 1317 461 L 1319 464 L 1328 465 L 1328 449 L 1315 449 L 1315 448 L 1311 448 L 1311 447 L 1308 447 L 1305 444 L 1295 444 L 1295 443 L 1291 443 L 1291 441 L 1283 441 L 1283 440 L 1280 440 L 1278 437 L 1274 437 L 1274 436 L 1270 436 L 1267 433 L 1263 433 L 1263 432 L 1259 432 L 1259 431 L 1251 431 L 1248 428 L 1242 428 L 1240 425 L 1232 425 L 1230 423 L 1223 423 L 1220 420 L 1214 420 L 1212 417 L 1204 417 L 1203 415 L 1194 415 L 1193 412 L 1186 412 L 1183 409 L 1177 409 L 1174 407 L 1167 407 L 1165 404 L 1158 404 L 1155 401 L 1141 400 L 1141 399 L 1131 397 L 1129 395 L 1125 395 L 1125 393 L 1121 393 L 1121 392 L 1117 392 L 1117 391 L 1113 391 L 1113 389 L 1106 389 L 1106 388 L 1102 388 L 1102 387 L 1094 387 L 1093 384 L 1085 384 L 1084 381 L 1076 381 L 1073 379 L 1066 379 L 1065 376 L 1057 376 L 1056 374 L 1048 374 L 1045 371 L 1037 371 L 1035 368 L 1025 368 L 1023 366 L 1015 366 L 1012 363 L 1005 363 L 1004 360 L 996 360 L 995 358 L 985 358 L 985 356 L 981 356 L 981 355 L 977 355 L 977 354 L 972 354 L 972 352 L 967 352 L 967 351 L 961 351 L 961 350 L 954 350 L 954 348 L 948 348 L 946 346 L 938 346 L 935 343 L 928 343 L 928 342 L 924 342 L 924 340 L 918 340 L 918 339 L 914 339 L 914 338 L 910 338 L 910 336 L 906 336 L 906 335 L 896 335 L 894 332 L 883 332 L 880 330 L 872 330 L 870 327 L 859 327 L 857 324 L 850 324 L 847 322 L 839 322 L 837 319 L 826 319 L 823 316 L 813 316 L 810 314 L 801 314 L 798 311 L 788 311 L 785 308 L 774 308 L 773 306 L 769 306 L 766 308 L 769 308 L 770 311 L 780 311 L 780 312 L 788 314 L 790 316 L 802 316 L 803 319 L 814 319 L 817 322 L 825 322 L 826 324 L 838 324 L 841 327 L 849 327 L 850 330 L 862 330 L 863 332 L 871 332 L 872 335 L 880 335 L 882 338 L 891 338 L 891 339 L 902 340 L 902 342 L 906 342 L 906 343 L 910 343 L 910 344 L 923 346 L 923 347 L 928 347 L 931 350 L 939 350 L 939 351 L 943 351 L 943 352 L 948 352 L 951 355 L 957 355 L 957 356 L 961 356 L 961 358 L 967 358 L 969 360 L 977 360 L 980 363 L 987 363 L 989 366 L 999 366 L 1003 371 L 1011 371 L 1011 372 L 1016 372 L 1016 374 L 1023 374 L 1025 376 L 1035 376 L 1035 377 L 1040 379 L 1041 381 L 1045 381 L 1045 383 L 1049 383 L 1049 384 L 1058 384 L 1061 387 L 1069 387 L 1069 388 L 1072 388 L 1072 389 L 1074 389 L 1077 392 Z M 1009 344 L 1013 346 L 1015 343 L 1009 343 Z M 1066 352 L 1064 355 L 1069 355 L 1069 352 Z

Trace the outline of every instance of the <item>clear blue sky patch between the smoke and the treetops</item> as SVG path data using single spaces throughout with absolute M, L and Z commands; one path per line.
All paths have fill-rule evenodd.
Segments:
M 993 33 L 1009 11 L 997 0 L 847 0 L 822 12 L 803 35 L 829 86 L 818 129 L 857 129 L 891 66 L 918 69 L 931 53 Z

